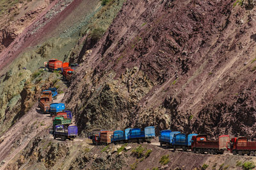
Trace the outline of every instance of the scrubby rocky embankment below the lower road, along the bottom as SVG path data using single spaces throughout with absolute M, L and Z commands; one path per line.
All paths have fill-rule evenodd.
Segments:
M 6 169 L 243 169 L 255 162 L 255 157 L 228 153 L 195 154 L 153 144 L 95 146 L 88 139 L 63 142 L 48 136 L 38 134 Z

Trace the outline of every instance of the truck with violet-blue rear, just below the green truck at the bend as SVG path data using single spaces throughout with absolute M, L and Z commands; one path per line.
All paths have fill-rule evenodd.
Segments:
M 74 140 L 77 137 L 76 126 L 56 125 L 53 130 L 50 130 L 50 134 L 53 135 L 54 139 L 60 138 L 62 141 L 66 139 Z

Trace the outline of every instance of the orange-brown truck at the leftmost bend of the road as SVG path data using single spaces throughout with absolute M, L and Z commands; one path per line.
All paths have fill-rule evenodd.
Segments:
M 39 99 L 40 111 L 42 111 L 43 113 L 49 112 L 50 104 L 52 104 L 52 92 L 51 91 L 43 91 L 43 93 Z

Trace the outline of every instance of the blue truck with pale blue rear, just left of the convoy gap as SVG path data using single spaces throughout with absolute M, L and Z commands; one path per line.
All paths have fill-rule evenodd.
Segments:
M 140 128 L 131 128 L 128 133 L 128 143 L 150 143 L 150 140 L 155 137 L 155 127 L 145 127 L 144 130 Z

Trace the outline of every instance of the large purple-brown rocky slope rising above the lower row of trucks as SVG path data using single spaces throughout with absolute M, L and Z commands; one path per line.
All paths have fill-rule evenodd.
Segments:
M 126 1 L 65 95 L 81 133 L 155 125 L 256 137 L 254 5 Z

